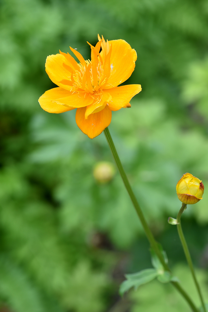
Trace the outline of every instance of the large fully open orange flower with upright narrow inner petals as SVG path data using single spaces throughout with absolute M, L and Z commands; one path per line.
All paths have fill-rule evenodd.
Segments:
M 91 61 L 85 61 L 71 47 L 80 63 L 61 51 L 48 56 L 46 73 L 58 87 L 46 91 L 38 100 L 49 113 L 76 108 L 76 123 L 91 139 L 108 127 L 112 110 L 131 107 L 129 101 L 142 90 L 141 85 L 118 87 L 134 71 L 136 51 L 122 39 L 105 42 L 98 35 L 98 40 L 96 46 L 88 42 Z

